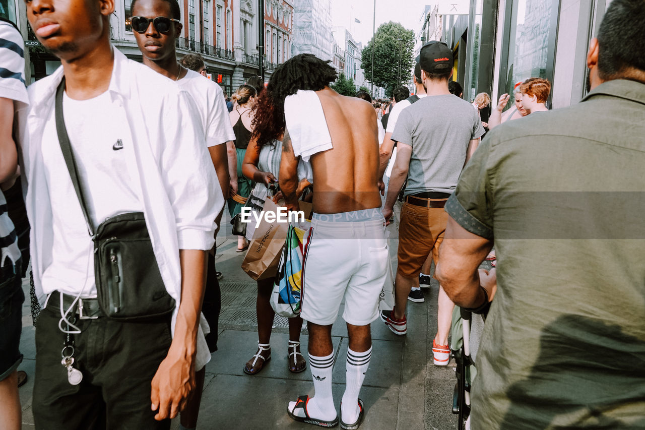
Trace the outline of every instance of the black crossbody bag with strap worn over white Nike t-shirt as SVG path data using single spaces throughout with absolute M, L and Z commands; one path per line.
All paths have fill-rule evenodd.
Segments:
M 143 212 L 108 218 L 94 230 L 78 169 L 63 118 L 65 79 L 56 90 L 56 131 L 76 196 L 81 203 L 88 232 L 94 242 L 94 276 L 97 299 L 108 318 L 139 320 L 170 314 L 175 299 L 168 294 Z

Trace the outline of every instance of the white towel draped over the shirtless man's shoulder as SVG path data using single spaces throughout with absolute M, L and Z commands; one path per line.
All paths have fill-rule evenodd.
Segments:
M 315 91 L 298 90 L 284 99 L 284 119 L 293 153 L 308 162 L 313 154 L 332 149 L 332 136 L 324 118 L 323 105 Z

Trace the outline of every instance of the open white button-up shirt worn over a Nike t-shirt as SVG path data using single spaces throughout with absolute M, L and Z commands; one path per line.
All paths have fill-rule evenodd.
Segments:
M 54 110 L 55 91 L 62 78 L 63 67 L 59 67 L 51 76 L 31 85 L 30 106 L 19 112 L 30 251 L 35 292 L 41 305 L 46 300 L 41 280 L 52 262 L 54 240 L 50 193 L 56 192 L 48 187 L 41 148 L 47 139 L 58 145 L 57 136 L 45 136 L 43 128 Z M 174 329 L 181 298 L 179 250 L 213 247 L 213 220 L 224 206 L 223 194 L 204 145 L 199 112 L 185 90 L 114 49 L 108 92 L 112 103 L 126 112 L 132 132 L 132 145 L 124 146 L 123 151 L 143 204 L 159 271 L 168 294 L 177 303 Z M 81 210 L 76 199 L 69 204 Z

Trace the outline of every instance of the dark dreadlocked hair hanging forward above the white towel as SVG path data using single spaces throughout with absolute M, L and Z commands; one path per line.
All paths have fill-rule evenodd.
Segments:
M 284 99 L 298 90 L 319 91 L 335 81 L 338 74 L 313 54 L 299 54 L 275 68 L 266 90 L 253 109 L 253 134 L 258 148 L 284 134 Z

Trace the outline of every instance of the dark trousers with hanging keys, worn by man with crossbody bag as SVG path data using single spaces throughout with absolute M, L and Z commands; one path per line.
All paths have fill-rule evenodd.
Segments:
M 170 420 L 155 421 L 150 410 L 150 384 L 172 341 L 170 316 L 155 322 L 77 318 L 82 333 L 71 335 L 74 368 L 83 381 L 71 385 L 61 365 L 66 334 L 58 328 L 59 302 L 53 299 L 36 324 L 36 429 L 170 429 Z

